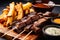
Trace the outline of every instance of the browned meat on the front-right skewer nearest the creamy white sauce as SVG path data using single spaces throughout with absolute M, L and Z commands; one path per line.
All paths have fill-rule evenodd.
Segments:
M 49 17 L 44 17 L 44 18 L 41 18 L 38 21 L 34 22 L 33 26 L 31 27 L 31 30 L 34 30 L 35 33 L 38 33 L 39 31 L 41 31 L 39 25 L 41 25 L 42 23 L 47 21 L 47 19 L 49 19 Z

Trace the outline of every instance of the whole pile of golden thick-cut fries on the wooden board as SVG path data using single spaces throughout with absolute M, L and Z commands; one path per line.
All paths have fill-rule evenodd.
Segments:
M 20 20 L 25 15 L 34 10 L 31 8 L 32 3 L 27 2 L 26 4 L 20 3 L 10 3 L 5 9 L 3 9 L 2 14 L 0 15 L 0 23 L 4 26 L 12 25 L 14 20 Z

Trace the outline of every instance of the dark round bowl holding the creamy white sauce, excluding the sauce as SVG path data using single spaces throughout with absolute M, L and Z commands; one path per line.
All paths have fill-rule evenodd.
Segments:
M 56 35 L 50 35 L 50 34 L 47 34 L 47 33 L 45 32 L 45 30 L 46 30 L 47 28 L 50 28 L 50 27 L 60 28 L 60 26 L 58 26 L 58 25 L 47 25 L 47 26 L 43 27 L 43 28 L 42 28 L 42 32 L 43 32 L 44 38 L 46 38 L 46 39 L 48 39 L 48 40 L 60 39 L 60 35 L 58 35 L 58 36 L 56 36 Z

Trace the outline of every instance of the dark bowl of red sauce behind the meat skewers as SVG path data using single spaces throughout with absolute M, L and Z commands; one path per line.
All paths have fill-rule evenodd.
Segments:
M 38 6 L 38 5 L 40 5 L 40 6 Z M 34 7 L 35 11 L 37 11 L 37 12 L 52 11 L 52 9 L 53 9 L 53 7 L 48 7 L 46 5 L 39 4 L 39 3 L 33 4 L 33 7 Z

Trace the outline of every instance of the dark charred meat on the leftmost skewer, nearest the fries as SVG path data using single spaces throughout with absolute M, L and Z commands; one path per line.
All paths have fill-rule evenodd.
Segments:
M 33 16 L 24 17 L 23 19 L 21 19 L 21 22 L 16 23 L 19 26 L 17 28 L 18 30 L 24 28 L 26 25 L 31 24 L 33 21 L 36 21 L 40 18 L 39 15 L 34 15 L 34 14 L 30 14 L 30 15 L 33 15 Z M 32 18 L 34 18 L 34 19 L 32 19 Z

